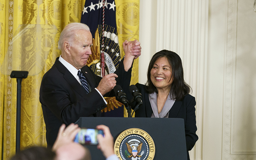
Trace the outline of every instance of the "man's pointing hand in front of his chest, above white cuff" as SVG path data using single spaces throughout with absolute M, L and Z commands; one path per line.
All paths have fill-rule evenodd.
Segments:
M 118 76 L 115 73 L 104 76 L 97 87 L 97 90 L 100 91 L 101 95 L 110 92 L 116 86 L 116 78 Z

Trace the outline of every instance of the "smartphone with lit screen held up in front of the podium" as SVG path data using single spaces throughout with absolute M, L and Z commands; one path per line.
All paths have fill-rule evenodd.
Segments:
M 104 136 L 102 130 L 81 128 L 81 130 L 76 134 L 74 141 L 82 145 L 98 145 L 98 134 L 102 134 Z

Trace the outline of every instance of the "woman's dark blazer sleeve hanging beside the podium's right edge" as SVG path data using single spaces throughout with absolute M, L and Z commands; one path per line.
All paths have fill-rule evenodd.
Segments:
M 190 100 L 190 101 L 189 101 Z M 186 100 L 186 123 L 185 123 L 185 134 L 186 134 L 186 143 L 187 150 L 191 150 L 196 141 L 198 140 L 198 136 L 196 135 L 196 100 L 195 97 L 192 99 Z

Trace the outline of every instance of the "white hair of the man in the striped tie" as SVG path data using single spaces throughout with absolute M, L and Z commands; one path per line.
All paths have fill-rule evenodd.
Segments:
M 60 39 L 58 42 L 58 49 L 62 51 L 63 49 L 63 44 L 65 41 L 68 41 L 69 44 L 72 45 L 75 37 L 75 32 L 78 30 L 84 30 L 84 31 L 89 31 L 90 28 L 83 23 L 69 23 L 60 33 Z

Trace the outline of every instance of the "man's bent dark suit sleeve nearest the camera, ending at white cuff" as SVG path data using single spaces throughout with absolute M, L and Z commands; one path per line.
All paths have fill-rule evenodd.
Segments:
M 82 96 L 68 83 L 61 81 L 61 78 L 59 81 L 56 80 L 58 77 L 61 76 L 56 74 L 44 76 L 40 89 L 40 102 L 47 106 L 62 123 L 67 125 L 74 123 L 79 117 L 91 116 L 106 107 L 104 100 L 95 89 Z M 74 83 L 78 83 L 75 78 L 74 80 Z

